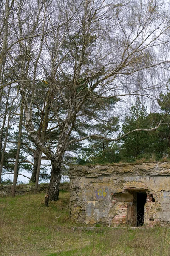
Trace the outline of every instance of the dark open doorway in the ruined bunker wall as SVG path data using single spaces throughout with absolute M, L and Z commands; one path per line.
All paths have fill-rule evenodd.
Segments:
M 144 205 L 146 203 L 146 192 L 137 193 L 137 227 L 144 224 Z

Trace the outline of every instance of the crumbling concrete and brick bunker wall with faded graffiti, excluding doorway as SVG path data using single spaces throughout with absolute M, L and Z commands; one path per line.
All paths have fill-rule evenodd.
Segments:
M 144 224 L 170 224 L 170 163 L 74 166 L 70 216 L 94 225 L 136 226 L 136 195 L 147 195 Z

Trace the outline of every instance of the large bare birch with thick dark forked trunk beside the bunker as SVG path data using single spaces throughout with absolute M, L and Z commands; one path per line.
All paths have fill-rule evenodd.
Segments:
M 54 95 L 51 107 L 59 127 L 56 151 L 38 138 L 27 87 L 23 85 L 21 90 L 27 131 L 51 160 L 50 200 L 58 199 L 62 159 L 68 145 L 89 137 L 117 140 L 94 131 L 81 137 L 76 133 L 78 123 L 92 122 L 92 119 L 101 122 L 101 115 L 92 114 L 95 106 L 106 120 L 111 99 L 127 94 L 150 96 L 164 83 L 157 78 L 157 84 L 150 84 L 154 82 L 150 74 L 167 69 L 169 63 L 169 59 L 161 55 L 163 46 L 169 42 L 168 13 L 163 1 L 159 5 L 149 0 L 59 4 L 59 11 L 50 19 L 51 27 L 57 29 L 47 35 L 45 55 L 41 58 L 45 81 Z M 69 17 L 68 23 L 65 18 L 69 20 Z M 73 135 L 76 138 L 71 140 Z

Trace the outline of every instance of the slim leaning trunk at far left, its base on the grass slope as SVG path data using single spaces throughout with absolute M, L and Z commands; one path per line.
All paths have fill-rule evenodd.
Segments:
M 15 160 L 15 166 L 14 166 L 14 178 L 13 178 L 13 186 L 12 186 L 12 196 L 15 196 L 15 188 L 17 183 L 17 177 L 18 177 L 18 163 L 19 163 L 19 157 L 20 157 L 20 149 L 21 149 L 21 136 L 22 136 L 22 123 L 23 123 L 23 102 L 21 104 L 21 110 L 20 110 L 20 122 L 18 127 L 18 147 L 17 147 L 17 154 L 16 154 L 16 160 Z

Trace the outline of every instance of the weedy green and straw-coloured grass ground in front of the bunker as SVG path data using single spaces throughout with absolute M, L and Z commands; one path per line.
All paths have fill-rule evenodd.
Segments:
M 0 256 L 170 256 L 168 228 L 87 231 L 68 212 L 68 192 L 49 207 L 44 194 L 0 198 Z

